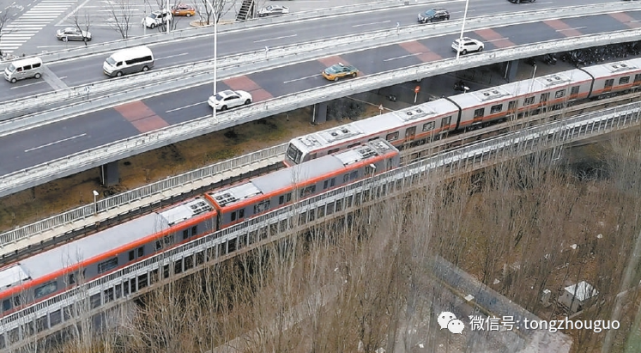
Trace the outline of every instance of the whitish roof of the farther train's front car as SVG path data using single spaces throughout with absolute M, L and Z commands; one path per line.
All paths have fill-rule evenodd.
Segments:
M 292 139 L 292 143 L 303 152 L 333 146 L 343 141 L 363 135 L 372 135 L 392 130 L 400 125 L 411 123 L 413 120 L 425 119 L 431 116 L 458 112 L 458 108 L 447 99 L 437 99 L 418 106 L 403 110 L 377 115 L 368 119 L 358 120 L 346 125 L 334 127 L 320 132 Z

